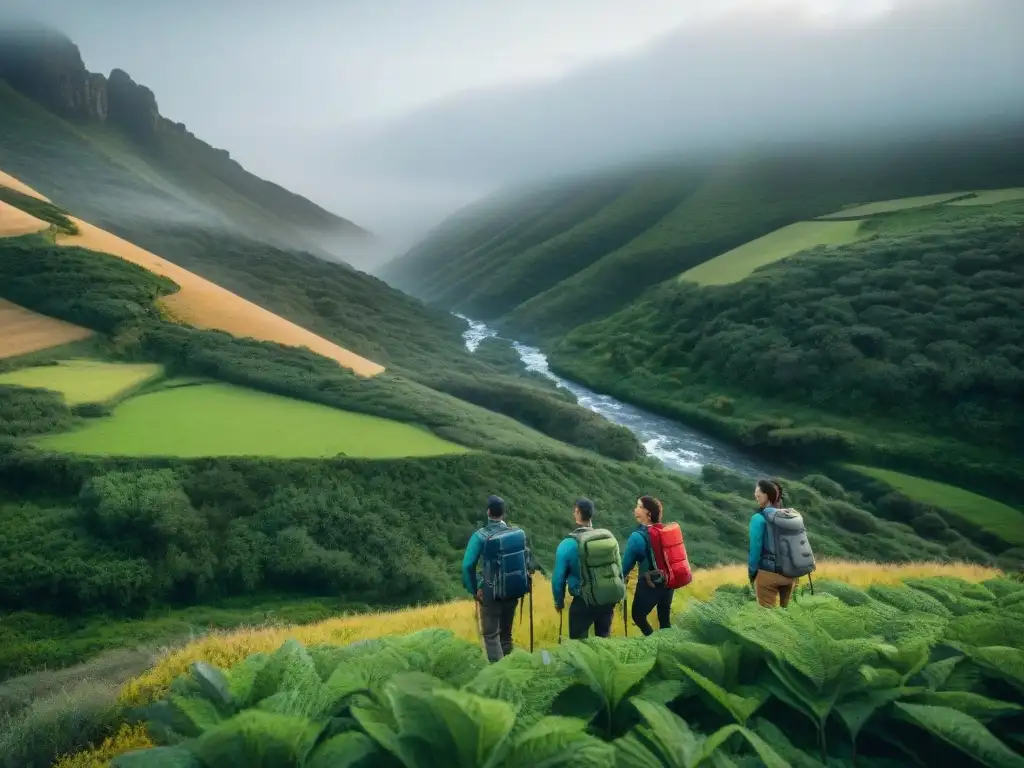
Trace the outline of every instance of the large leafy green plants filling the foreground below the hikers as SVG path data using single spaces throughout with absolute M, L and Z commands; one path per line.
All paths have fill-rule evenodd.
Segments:
M 1024 765 L 1024 585 L 817 588 L 493 666 L 438 629 L 197 662 L 112 765 Z

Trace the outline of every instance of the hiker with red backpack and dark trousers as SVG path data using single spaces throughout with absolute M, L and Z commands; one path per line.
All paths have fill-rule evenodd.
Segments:
M 644 636 L 654 632 L 647 621 L 654 608 L 657 608 L 658 628 L 667 630 L 672 626 L 672 598 L 677 589 L 693 579 L 679 523 L 666 525 L 663 514 L 660 500 L 652 496 L 637 499 L 633 510 L 637 529 L 630 534 L 623 553 L 623 579 L 628 582 L 633 567 L 637 568 L 637 588 L 630 613 Z

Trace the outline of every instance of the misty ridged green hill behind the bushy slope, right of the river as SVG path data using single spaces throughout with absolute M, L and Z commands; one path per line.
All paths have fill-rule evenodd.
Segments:
M 1024 164 L 1012 147 L 1022 131 L 762 147 L 506 193 L 460 212 L 379 273 L 439 306 L 556 339 L 787 224 L 867 201 L 1020 184 Z

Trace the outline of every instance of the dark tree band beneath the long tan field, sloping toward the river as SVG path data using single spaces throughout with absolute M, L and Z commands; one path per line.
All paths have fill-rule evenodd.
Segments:
M 484 411 L 431 389 L 426 374 L 413 373 L 410 378 L 388 372 L 366 380 L 305 349 L 166 323 L 155 302 L 177 286 L 113 256 L 54 246 L 39 237 L 5 239 L 0 241 L 0 286 L 4 298 L 106 333 L 112 353 L 163 362 L 172 375 L 210 376 L 421 424 L 442 437 L 482 450 L 513 454 L 561 450 L 514 421 L 488 413 L 494 411 L 587 450 L 620 459 L 643 456 L 642 446 L 624 428 L 597 420 L 586 409 L 525 380 L 520 384 L 497 373 L 489 383 L 464 377 L 461 391 Z M 477 370 L 497 372 L 486 366 Z

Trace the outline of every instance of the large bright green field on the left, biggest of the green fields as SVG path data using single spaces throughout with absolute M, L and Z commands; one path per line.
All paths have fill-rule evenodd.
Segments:
M 99 456 L 361 458 L 465 451 L 425 429 L 230 384 L 165 388 L 41 447 Z

